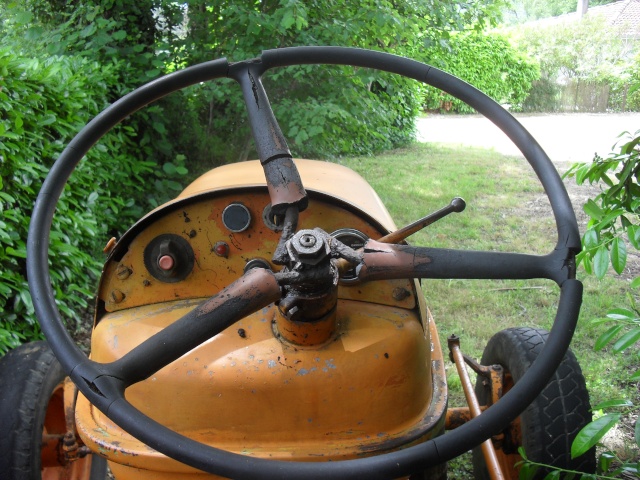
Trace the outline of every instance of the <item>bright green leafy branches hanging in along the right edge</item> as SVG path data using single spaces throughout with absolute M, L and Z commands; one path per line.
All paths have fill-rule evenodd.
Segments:
M 587 273 L 602 279 L 609 265 L 617 274 L 624 272 L 627 265 L 629 247 L 640 250 L 640 130 L 634 134 L 624 132 L 621 140 L 607 158 L 598 155 L 591 163 L 573 165 L 565 176 L 575 177 L 579 185 L 589 182 L 599 184 L 602 189 L 595 198 L 584 204 L 589 216 L 583 236 L 582 252 L 577 259 Z M 632 289 L 640 286 L 640 277 L 630 284 Z M 604 318 L 592 320 L 593 325 L 603 323 L 610 327 L 595 341 L 596 351 L 611 348 L 619 354 L 636 346 L 640 341 L 640 309 L 633 295 L 628 295 L 628 308 L 614 308 Z M 629 381 L 640 380 L 640 370 L 629 377 Z M 636 415 L 638 405 L 627 399 L 608 399 L 594 407 L 598 416 L 587 424 L 576 436 L 571 447 L 571 456 L 578 457 L 595 445 L 625 416 Z M 606 413 L 604 413 L 606 412 Z M 634 426 L 635 444 L 640 447 L 640 422 L 636 415 Z M 613 467 L 616 467 L 611 471 Z M 537 468 L 539 465 L 526 460 L 523 468 Z M 640 472 L 637 462 L 624 462 L 611 451 L 604 451 L 598 460 L 597 476 L 582 475 L 580 478 L 613 478 L 623 472 Z M 546 478 L 559 478 L 561 473 L 554 470 Z M 521 477 L 522 478 L 522 477 Z

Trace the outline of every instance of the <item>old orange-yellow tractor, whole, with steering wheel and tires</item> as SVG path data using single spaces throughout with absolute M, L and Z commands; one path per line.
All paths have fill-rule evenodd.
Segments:
M 424 82 L 500 127 L 548 195 L 547 255 L 416 247 L 405 239 L 450 205 L 397 228 L 346 167 L 293 159 L 262 85 L 298 64 L 353 65 Z M 259 160 L 215 168 L 107 246 L 89 357 L 51 288 L 49 229 L 64 185 L 102 135 L 145 105 L 229 78 L 244 94 Z M 114 103 L 69 144 L 35 204 L 28 277 L 48 343 L 0 362 L 2 478 L 426 479 L 474 450 L 477 478 L 537 462 L 593 471 L 570 445 L 590 420 L 568 351 L 580 310 L 575 215 L 544 151 L 503 108 L 436 68 L 340 47 L 265 51 L 162 77 Z M 420 279 L 532 279 L 559 289 L 551 332 L 495 334 L 476 362 L 446 339 Z M 445 363 L 468 405 L 448 405 Z M 475 371 L 474 388 L 467 366 Z

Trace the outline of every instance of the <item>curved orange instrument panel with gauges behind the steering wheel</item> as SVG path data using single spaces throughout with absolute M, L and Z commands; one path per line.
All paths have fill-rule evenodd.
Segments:
M 207 298 L 250 268 L 278 271 L 271 258 L 280 238 L 269 218 L 266 188 L 212 192 L 174 202 L 136 224 L 107 260 L 98 293 L 100 313 L 186 298 Z M 319 227 L 360 248 L 385 231 L 356 207 L 309 192 L 298 229 Z M 341 281 L 343 299 L 415 306 L 409 280 L 359 283 L 354 272 Z

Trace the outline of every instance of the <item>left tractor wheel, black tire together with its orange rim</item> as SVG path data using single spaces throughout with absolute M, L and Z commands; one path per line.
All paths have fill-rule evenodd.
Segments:
M 104 480 L 106 461 L 87 455 L 66 466 L 43 435 L 63 435 L 65 374 L 46 342 L 21 345 L 0 358 L 0 472 L 7 480 Z M 44 448 L 43 448 L 44 447 Z

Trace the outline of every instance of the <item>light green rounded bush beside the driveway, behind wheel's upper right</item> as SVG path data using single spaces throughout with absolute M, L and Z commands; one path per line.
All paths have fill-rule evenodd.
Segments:
M 434 67 L 447 71 L 483 91 L 498 103 L 521 110 L 531 84 L 540 76 L 538 65 L 499 35 L 463 33 L 450 39 L 450 50 L 435 52 L 429 59 Z M 461 100 L 429 88 L 425 96 L 428 110 L 472 113 Z

